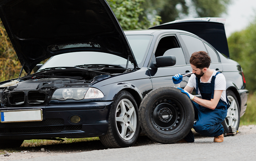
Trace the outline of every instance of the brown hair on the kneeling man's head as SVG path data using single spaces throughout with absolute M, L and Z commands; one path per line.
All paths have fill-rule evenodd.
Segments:
M 209 68 L 211 58 L 205 51 L 196 51 L 191 55 L 189 63 L 196 66 L 199 69 Z

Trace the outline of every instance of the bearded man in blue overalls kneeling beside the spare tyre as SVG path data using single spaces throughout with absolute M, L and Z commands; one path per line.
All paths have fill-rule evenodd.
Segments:
M 227 116 L 229 101 L 226 96 L 226 80 L 223 74 L 210 69 L 210 57 L 205 51 L 194 52 L 190 58 L 190 65 L 194 75 L 191 75 L 186 87 L 180 88 L 182 75 L 173 76 L 174 87 L 185 93 L 191 100 L 197 120 L 193 128 L 199 134 L 214 137 L 214 142 L 224 140 L 222 121 Z M 196 89 L 198 98 L 191 94 Z M 194 142 L 192 131 L 180 142 Z

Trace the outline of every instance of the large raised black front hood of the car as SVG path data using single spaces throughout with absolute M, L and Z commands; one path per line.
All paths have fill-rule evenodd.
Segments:
M 25 71 L 67 52 L 98 51 L 137 66 L 106 0 L 0 0 L 0 18 Z

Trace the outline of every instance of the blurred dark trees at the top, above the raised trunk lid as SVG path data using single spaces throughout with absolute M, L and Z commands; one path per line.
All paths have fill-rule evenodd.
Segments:
M 162 23 L 174 21 L 195 11 L 196 17 L 219 17 L 231 0 L 145 0 L 144 15 L 159 15 Z

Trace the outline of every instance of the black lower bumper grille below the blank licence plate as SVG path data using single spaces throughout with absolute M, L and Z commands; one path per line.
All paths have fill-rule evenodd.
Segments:
M 40 122 L 0 123 L 0 134 L 57 133 L 80 130 L 82 130 L 82 125 L 65 126 L 63 119 L 46 119 Z

